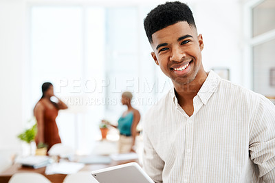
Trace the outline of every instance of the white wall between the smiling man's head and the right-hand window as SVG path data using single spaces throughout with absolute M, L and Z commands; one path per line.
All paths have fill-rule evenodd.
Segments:
M 241 83 L 241 4 L 234 1 L 201 1 L 193 10 L 198 34 L 202 34 L 204 69 L 230 69 L 230 80 Z M 234 12 L 234 13 L 233 13 Z

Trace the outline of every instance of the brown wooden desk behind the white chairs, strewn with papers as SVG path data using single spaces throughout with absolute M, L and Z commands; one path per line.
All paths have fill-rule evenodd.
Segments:
M 98 169 L 104 169 L 109 166 L 115 166 L 119 164 L 124 164 L 128 162 L 138 162 L 138 160 L 124 160 L 124 161 L 112 161 L 110 164 L 86 164 L 83 169 L 80 171 L 94 171 Z M 62 183 L 64 178 L 67 176 L 65 174 L 54 174 L 54 175 L 45 175 L 45 167 L 40 169 L 32 169 L 29 167 L 21 166 L 21 164 L 13 164 L 10 168 L 6 169 L 2 173 L 0 173 L 0 183 L 8 183 L 10 177 L 14 173 L 26 173 L 26 172 L 33 172 L 33 173 L 41 173 L 48 180 L 54 183 Z

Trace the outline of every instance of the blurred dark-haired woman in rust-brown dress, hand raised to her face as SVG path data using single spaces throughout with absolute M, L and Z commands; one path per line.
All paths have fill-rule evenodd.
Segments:
M 55 98 L 55 102 L 51 100 Z M 61 143 L 56 125 L 58 110 L 67 109 L 67 105 L 54 95 L 52 83 L 43 83 L 42 97 L 34 107 L 34 116 L 37 121 L 36 146 L 46 144 L 49 150 L 54 144 Z

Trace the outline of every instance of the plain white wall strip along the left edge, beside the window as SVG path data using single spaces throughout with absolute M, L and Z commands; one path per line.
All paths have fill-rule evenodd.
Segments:
M 0 1 L 0 149 L 19 145 L 23 122 L 23 23 L 21 1 Z

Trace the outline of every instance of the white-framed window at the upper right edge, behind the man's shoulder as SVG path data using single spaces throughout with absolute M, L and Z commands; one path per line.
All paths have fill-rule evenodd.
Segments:
M 270 72 L 275 67 L 275 1 L 261 0 L 252 7 L 253 88 L 265 96 L 275 96 Z

